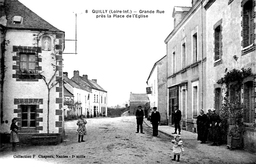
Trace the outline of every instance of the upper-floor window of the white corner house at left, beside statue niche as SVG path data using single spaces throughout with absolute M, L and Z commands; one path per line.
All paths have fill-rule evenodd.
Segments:
M 36 60 L 34 53 L 20 54 L 20 71 L 24 74 L 36 73 Z

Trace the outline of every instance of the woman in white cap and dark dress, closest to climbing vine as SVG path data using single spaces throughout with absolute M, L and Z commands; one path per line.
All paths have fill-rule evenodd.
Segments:
M 218 144 L 218 139 L 219 139 L 219 127 L 220 127 L 220 116 L 219 114 L 215 113 L 215 109 L 211 108 L 211 113 L 212 115 L 210 116 L 210 128 L 212 129 L 212 137 L 213 137 L 213 144 L 212 146 L 216 145 L 219 146 Z

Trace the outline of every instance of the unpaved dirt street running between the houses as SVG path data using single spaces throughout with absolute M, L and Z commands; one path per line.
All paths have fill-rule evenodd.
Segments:
M 241 150 L 221 152 L 220 147 L 183 140 L 185 152 L 180 162 L 172 161 L 172 137 L 151 137 L 152 129 L 143 124 L 145 134 L 136 132 L 135 117 L 92 118 L 87 120 L 85 142 L 78 143 L 76 121 L 66 121 L 66 140 L 59 145 L 21 146 L 18 152 L 1 152 L 2 161 L 27 163 L 255 163 L 255 154 Z M 218 150 L 219 149 L 219 150 Z M 240 152 L 239 152 L 240 151 Z M 228 154 L 227 154 L 228 153 Z M 233 158 L 234 155 L 236 158 Z M 232 154 L 232 155 L 231 155 Z M 14 158 L 30 155 L 32 158 Z M 33 155 L 35 157 L 33 158 Z M 56 158 L 59 157 L 66 158 Z M 54 158 L 39 158 L 52 156 Z M 1 162 L 2 163 L 2 162 Z

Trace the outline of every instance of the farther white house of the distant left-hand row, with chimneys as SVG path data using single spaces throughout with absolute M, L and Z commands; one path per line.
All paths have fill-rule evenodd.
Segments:
M 97 80 L 89 80 L 87 75 L 83 75 L 83 77 L 81 77 L 79 76 L 79 71 L 74 71 L 74 76 L 71 78 L 71 80 L 77 82 L 92 92 L 92 95 L 90 94 L 92 101 L 90 101 L 89 111 L 92 113 L 92 116 L 107 116 L 107 91 L 97 84 Z

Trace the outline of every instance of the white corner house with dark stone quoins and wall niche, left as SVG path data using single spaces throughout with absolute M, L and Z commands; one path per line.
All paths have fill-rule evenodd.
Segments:
M 61 141 L 65 136 L 62 109 L 65 33 L 18 0 L 1 0 L 0 20 L 1 45 L 5 45 L 0 50 L 1 143 L 8 140 L 13 118 L 17 119 L 22 143 L 30 143 L 40 135 L 55 135 Z

